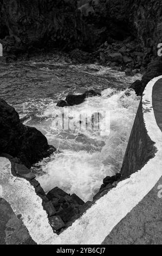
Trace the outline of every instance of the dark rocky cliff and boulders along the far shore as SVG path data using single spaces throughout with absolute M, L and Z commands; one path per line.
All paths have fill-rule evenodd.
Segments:
M 141 95 L 150 78 L 161 74 L 161 14 L 161 0 L 1 0 L 0 42 L 4 54 L 79 48 L 93 56 L 74 50 L 74 59 L 83 55 L 115 68 L 125 65 L 129 74 L 143 73 L 151 63 Z

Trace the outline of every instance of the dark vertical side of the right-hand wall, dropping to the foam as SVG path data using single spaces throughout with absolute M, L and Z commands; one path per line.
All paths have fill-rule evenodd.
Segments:
M 153 145 L 154 143 L 147 135 L 142 114 L 142 101 L 140 101 L 121 167 L 121 178 L 127 178 L 137 172 L 154 156 L 156 149 Z

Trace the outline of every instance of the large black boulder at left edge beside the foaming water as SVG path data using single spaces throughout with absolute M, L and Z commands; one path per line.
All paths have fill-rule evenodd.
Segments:
M 21 123 L 15 109 L 0 99 L 0 154 L 18 157 L 25 166 L 40 161 L 56 149 L 34 127 Z

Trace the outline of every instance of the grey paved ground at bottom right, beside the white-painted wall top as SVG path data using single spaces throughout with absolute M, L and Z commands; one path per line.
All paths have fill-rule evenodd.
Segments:
M 103 245 L 161 245 L 162 243 L 162 199 L 158 198 L 158 186 L 116 225 L 103 241 Z

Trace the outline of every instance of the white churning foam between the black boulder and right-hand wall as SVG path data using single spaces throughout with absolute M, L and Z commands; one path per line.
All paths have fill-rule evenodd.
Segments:
M 126 96 L 125 92 L 106 89 L 101 97 L 92 97 L 79 106 L 70 107 L 70 114 L 76 123 L 77 113 L 81 111 L 109 111 L 110 133 L 107 134 L 78 129 L 75 132 L 53 132 L 51 116 L 57 112 L 57 107 L 51 104 L 43 113 L 47 126 L 42 125 L 46 126 L 44 130 L 49 143 L 57 146 L 62 153 L 38 164 L 43 175 L 38 174 L 37 180 L 44 190 L 48 192 L 58 186 L 67 193 L 76 193 L 85 201 L 92 200 L 103 178 L 120 171 L 138 103 L 134 92 Z

